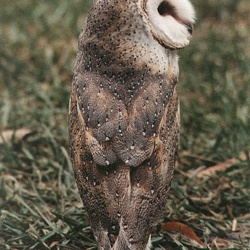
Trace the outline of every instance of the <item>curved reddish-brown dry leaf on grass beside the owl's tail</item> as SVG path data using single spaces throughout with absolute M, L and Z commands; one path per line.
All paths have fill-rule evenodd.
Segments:
M 166 222 L 161 226 L 161 231 L 174 231 L 181 233 L 191 240 L 196 241 L 199 245 L 206 247 L 205 244 L 199 239 L 195 232 L 187 225 L 180 222 Z

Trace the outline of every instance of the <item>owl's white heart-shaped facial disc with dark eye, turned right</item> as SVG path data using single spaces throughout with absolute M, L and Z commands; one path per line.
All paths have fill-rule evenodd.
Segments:
M 165 48 L 181 49 L 189 44 L 195 11 L 188 0 L 141 0 L 153 37 Z

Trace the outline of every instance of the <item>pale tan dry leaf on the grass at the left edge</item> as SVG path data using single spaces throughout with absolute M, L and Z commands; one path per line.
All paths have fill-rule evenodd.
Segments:
M 12 139 L 14 139 L 14 142 L 17 143 L 21 141 L 26 135 L 31 133 L 32 131 L 27 128 L 20 128 L 17 130 L 4 130 L 0 132 L 0 144 L 8 143 Z

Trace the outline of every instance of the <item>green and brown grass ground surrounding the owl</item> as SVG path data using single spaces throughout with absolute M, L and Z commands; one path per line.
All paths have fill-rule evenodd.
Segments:
M 179 162 L 163 221 L 185 223 L 211 249 L 249 249 L 250 6 L 193 3 L 194 38 L 180 51 Z M 0 130 L 17 131 L 0 143 L 0 249 L 95 249 L 67 141 L 77 38 L 90 3 L 0 4 Z M 20 136 L 21 128 L 29 132 Z M 195 175 L 232 158 L 239 160 L 222 172 Z M 158 229 L 153 243 L 201 249 Z

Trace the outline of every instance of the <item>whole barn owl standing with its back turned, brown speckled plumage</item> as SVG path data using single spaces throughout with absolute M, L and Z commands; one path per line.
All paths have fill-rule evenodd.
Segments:
M 69 105 L 77 186 L 98 249 L 150 249 L 179 142 L 177 50 L 188 0 L 95 0 L 79 37 Z

